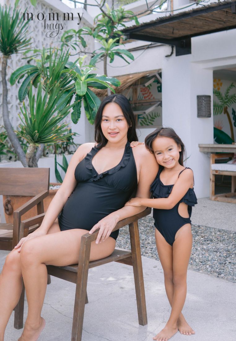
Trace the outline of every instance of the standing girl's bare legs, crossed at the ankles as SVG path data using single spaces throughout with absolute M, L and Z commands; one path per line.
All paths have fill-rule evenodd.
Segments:
M 177 328 L 181 333 L 185 333 L 186 335 L 194 333 L 181 313 L 187 290 L 187 267 L 192 247 L 191 227 L 190 225 L 185 225 L 179 229 L 173 248 L 157 230 L 155 236 L 158 255 L 164 270 L 166 293 L 172 306 L 172 312 L 166 327 L 154 337 L 154 340 L 167 341 L 176 333 Z

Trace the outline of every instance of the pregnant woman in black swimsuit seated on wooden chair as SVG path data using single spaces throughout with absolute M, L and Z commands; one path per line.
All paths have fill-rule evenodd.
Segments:
M 46 265 L 77 263 L 81 236 L 98 228 L 90 261 L 109 256 L 118 235 L 117 231 L 111 233 L 116 223 L 145 209 L 123 207 L 132 195 L 150 195 L 158 170 L 144 145 L 130 147 L 131 141 L 137 141 L 135 116 L 123 95 L 110 95 L 101 103 L 95 141 L 77 149 L 42 225 L 22 238 L 6 257 L 0 275 L 0 341 L 19 300 L 22 277 L 28 316 L 19 341 L 36 341 L 45 326 L 41 310 L 47 287 Z

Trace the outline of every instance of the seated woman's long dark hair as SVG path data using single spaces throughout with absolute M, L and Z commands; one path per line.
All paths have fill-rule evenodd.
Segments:
M 97 115 L 95 118 L 95 141 L 98 144 L 98 148 L 102 148 L 107 144 L 107 138 L 104 136 L 101 130 L 101 118 L 103 115 L 103 109 L 108 103 L 116 103 L 121 107 L 121 110 L 125 116 L 125 119 L 129 125 L 127 139 L 129 142 L 138 141 L 136 134 L 136 120 L 129 100 L 122 94 L 114 94 L 107 96 L 100 104 Z

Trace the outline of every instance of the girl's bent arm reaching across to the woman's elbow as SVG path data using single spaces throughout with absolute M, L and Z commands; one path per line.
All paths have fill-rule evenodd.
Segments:
M 147 206 L 159 209 L 169 210 L 173 208 L 180 199 L 188 192 L 188 189 L 193 186 L 193 172 L 191 169 L 186 169 L 179 175 L 176 183 L 168 198 L 147 199 L 147 198 L 133 198 L 130 199 L 126 206 Z

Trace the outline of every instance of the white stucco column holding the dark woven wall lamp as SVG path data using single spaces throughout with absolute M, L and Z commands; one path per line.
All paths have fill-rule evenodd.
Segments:
M 162 122 L 183 140 L 194 171 L 197 197 L 209 196 L 209 157 L 199 143 L 213 143 L 213 71 L 192 63 L 192 55 L 174 55 L 162 65 Z M 197 118 L 197 95 L 211 95 L 211 117 Z

